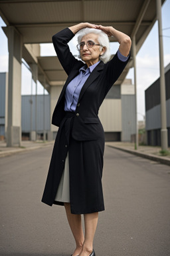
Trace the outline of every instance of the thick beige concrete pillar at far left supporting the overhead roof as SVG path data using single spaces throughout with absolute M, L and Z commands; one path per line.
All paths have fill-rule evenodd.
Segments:
M 7 147 L 21 145 L 21 59 L 23 42 L 15 27 L 7 27 L 9 49 Z

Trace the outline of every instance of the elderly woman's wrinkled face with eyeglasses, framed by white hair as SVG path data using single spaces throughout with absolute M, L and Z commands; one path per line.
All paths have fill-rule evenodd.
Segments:
M 99 44 L 98 35 L 94 33 L 84 35 L 80 43 L 88 43 L 89 41 Z M 84 45 L 83 49 L 80 49 L 80 57 L 82 61 L 84 61 L 86 65 L 88 65 L 88 67 L 97 63 L 99 61 L 100 55 L 102 55 L 103 53 L 104 48 L 101 50 L 100 45 L 94 45 L 92 48 L 88 48 L 87 45 Z

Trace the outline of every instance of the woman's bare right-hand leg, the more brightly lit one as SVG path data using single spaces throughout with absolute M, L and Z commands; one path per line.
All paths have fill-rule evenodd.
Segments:
M 97 225 L 98 213 L 84 214 L 85 239 L 80 256 L 89 256 L 92 253 Z

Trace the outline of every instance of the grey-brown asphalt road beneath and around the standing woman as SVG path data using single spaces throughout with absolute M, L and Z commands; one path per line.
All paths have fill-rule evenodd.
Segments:
M 0 159 L 0 255 L 69 256 L 64 207 L 41 203 L 52 147 Z M 96 256 L 170 255 L 170 167 L 106 147 Z

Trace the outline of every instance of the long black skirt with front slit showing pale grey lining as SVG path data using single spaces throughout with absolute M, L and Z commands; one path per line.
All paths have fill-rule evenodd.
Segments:
M 66 112 L 58 129 L 42 202 L 50 206 L 64 205 L 63 202 L 54 199 L 68 153 L 71 213 L 104 211 L 102 192 L 104 134 L 94 141 L 76 141 L 71 135 L 74 115 L 75 113 Z

